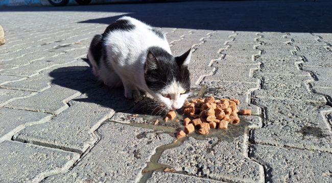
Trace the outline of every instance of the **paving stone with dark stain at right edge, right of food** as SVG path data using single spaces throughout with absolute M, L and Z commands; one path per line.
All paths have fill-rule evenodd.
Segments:
M 332 108 L 325 103 L 255 99 L 253 104 L 265 108 L 266 119 L 264 128 L 253 130 L 252 141 L 332 152 L 332 131 L 324 116 Z

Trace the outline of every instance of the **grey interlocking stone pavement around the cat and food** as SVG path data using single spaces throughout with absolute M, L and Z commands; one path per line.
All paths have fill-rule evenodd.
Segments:
M 331 8 L 248 1 L 0 9 L 0 182 L 332 182 Z M 257 115 L 183 142 L 174 141 L 181 125 L 152 125 L 151 99 L 126 100 L 84 62 L 93 35 L 123 15 L 160 27 L 175 55 L 193 46 L 194 94 L 235 97 Z

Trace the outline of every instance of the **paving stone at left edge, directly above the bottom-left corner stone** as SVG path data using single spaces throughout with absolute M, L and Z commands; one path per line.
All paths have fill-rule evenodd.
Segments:
M 0 108 L 0 142 L 10 140 L 14 134 L 25 127 L 44 123 L 51 114 L 18 109 Z

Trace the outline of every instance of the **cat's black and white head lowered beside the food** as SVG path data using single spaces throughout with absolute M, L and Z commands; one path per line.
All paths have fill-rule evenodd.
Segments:
M 145 81 L 151 95 L 168 110 L 181 108 L 189 95 L 190 58 L 191 49 L 177 57 L 159 47 L 148 49 Z

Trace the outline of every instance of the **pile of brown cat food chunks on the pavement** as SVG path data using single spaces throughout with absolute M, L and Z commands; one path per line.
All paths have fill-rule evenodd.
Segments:
M 186 101 L 183 105 L 183 113 L 189 117 L 183 119 L 184 131 L 179 131 L 177 138 L 194 132 L 195 128 L 199 134 L 208 134 L 211 128 L 227 129 L 228 124 L 240 123 L 238 113 L 251 115 L 251 110 L 243 109 L 239 111 L 239 104 L 238 99 L 217 100 L 213 96 Z M 175 117 L 175 111 L 169 111 L 165 121 L 173 120 Z

